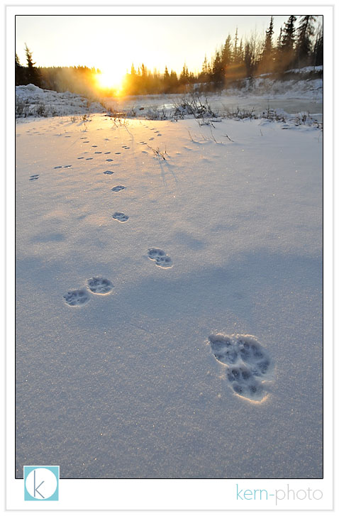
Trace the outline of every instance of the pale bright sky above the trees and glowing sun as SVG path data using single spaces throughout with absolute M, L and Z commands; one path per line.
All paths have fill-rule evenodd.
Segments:
M 274 36 L 288 16 L 274 16 Z M 25 43 L 37 66 L 113 71 L 118 82 L 133 63 L 148 69 L 201 70 L 228 33 L 263 38 L 270 16 L 16 16 L 16 53 L 26 65 Z M 111 72 L 112 73 L 112 72 Z

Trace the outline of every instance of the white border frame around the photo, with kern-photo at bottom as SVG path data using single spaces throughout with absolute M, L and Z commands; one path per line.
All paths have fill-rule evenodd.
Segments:
M 77 3 L 77 2 L 74 2 Z M 249 3 L 249 2 L 248 2 Z M 266 6 L 257 6 L 251 2 L 248 6 L 7 6 L 6 7 L 6 133 L 7 153 L 7 234 L 6 259 L 8 288 L 7 304 L 7 406 L 6 406 L 6 487 L 8 510 L 330 510 L 333 500 L 333 393 L 332 372 L 333 357 L 330 343 L 333 342 L 333 6 L 299 4 L 298 6 L 272 6 L 272 2 L 262 2 Z M 14 77 L 13 55 L 15 53 L 14 16 L 21 15 L 289 15 L 303 14 L 310 11 L 324 16 L 324 478 L 322 480 L 60 480 L 60 500 L 47 505 L 39 502 L 23 501 L 23 480 L 15 480 L 14 473 L 14 199 L 15 184 L 13 170 L 14 157 Z M 236 501 L 236 484 L 239 489 L 275 490 L 289 488 L 295 491 L 307 488 L 321 490 L 321 500 L 282 500 L 275 505 L 273 498 L 268 501 Z M 133 493 L 133 495 L 131 495 Z M 217 493 L 222 493 L 218 495 Z

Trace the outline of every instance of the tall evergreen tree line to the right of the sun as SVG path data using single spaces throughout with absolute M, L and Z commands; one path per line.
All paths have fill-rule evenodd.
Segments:
M 185 91 L 187 84 L 199 84 L 201 89 L 216 90 L 245 77 L 255 77 L 265 73 L 282 77 L 295 67 L 323 65 L 323 28 L 316 27 L 315 16 L 300 16 L 296 26 L 296 16 L 289 16 L 279 30 L 274 42 L 274 18 L 271 16 L 265 38 L 257 35 L 243 40 L 238 37 L 238 29 L 233 39 L 230 34 L 225 43 L 207 60 L 205 55 L 201 71 L 189 72 L 186 63 L 177 75 L 165 67 L 160 74 L 150 72 L 145 65 L 138 71 L 132 65 L 126 75 L 124 89 L 129 94 L 176 93 Z

